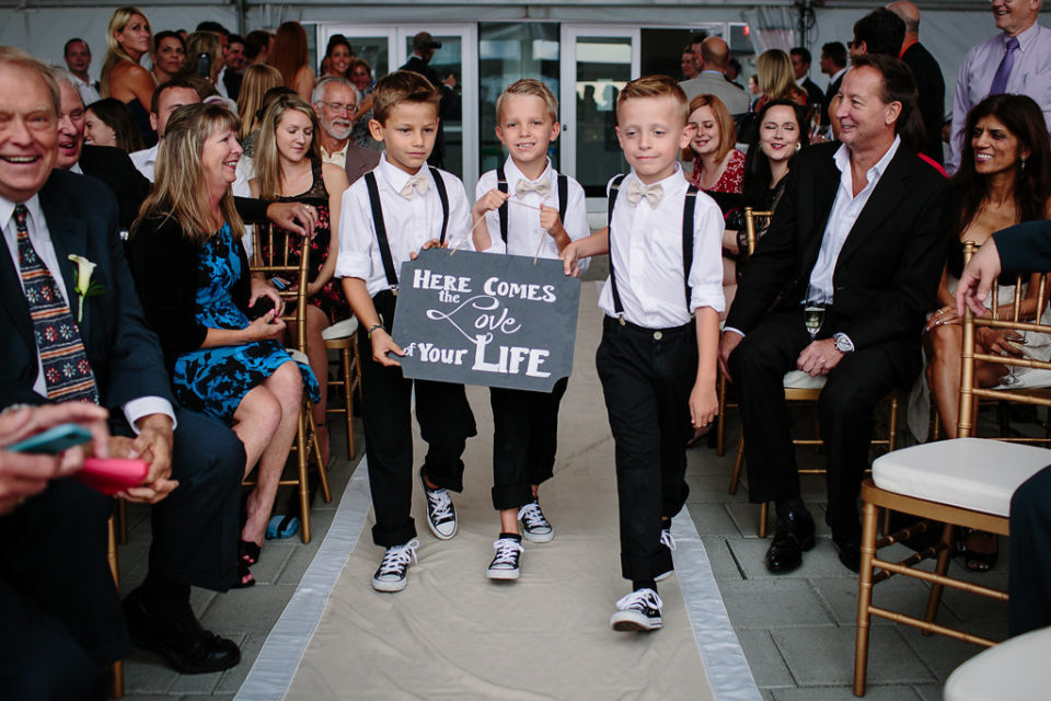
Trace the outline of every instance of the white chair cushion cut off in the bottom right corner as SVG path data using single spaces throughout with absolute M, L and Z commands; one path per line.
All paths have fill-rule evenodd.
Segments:
M 1029 701 L 1051 689 L 1051 628 L 990 647 L 956 668 L 945 682 L 945 701 Z

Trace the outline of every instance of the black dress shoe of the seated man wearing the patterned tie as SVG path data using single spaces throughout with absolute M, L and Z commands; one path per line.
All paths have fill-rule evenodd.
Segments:
M 203 629 L 193 612 L 164 617 L 150 613 L 142 606 L 139 589 L 124 599 L 124 616 L 131 642 L 160 653 L 180 674 L 222 671 L 241 662 L 238 645 Z

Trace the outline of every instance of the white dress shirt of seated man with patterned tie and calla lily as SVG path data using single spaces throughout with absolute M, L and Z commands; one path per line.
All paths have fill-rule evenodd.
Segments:
M 22 285 L 22 291 L 24 292 L 25 285 L 22 284 L 22 267 L 19 265 L 19 231 L 14 223 L 14 207 L 16 204 L 18 203 L 0 197 L 0 222 L 3 225 L 3 241 L 8 245 L 8 253 L 11 255 L 15 275 L 19 276 L 19 284 Z M 66 300 L 66 304 L 69 306 L 70 309 L 73 309 L 74 306 L 70 304 L 69 299 L 66 297 L 62 266 L 59 265 L 55 246 L 51 244 L 51 237 L 47 230 L 47 220 L 44 218 L 44 211 L 41 209 L 39 195 L 33 195 L 27 199 L 25 202 L 25 208 L 28 210 L 25 226 L 30 234 L 30 243 L 33 244 L 37 257 L 41 258 L 41 262 L 47 267 L 48 272 L 50 272 L 51 277 L 55 278 L 55 284 L 62 299 Z M 70 265 L 72 265 L 72 263 L 70 263 Z M 39 349 L 37 349 L 36 361 L 37 374 L 36 381 L 33 382 L 33 391 L 46 398 L 47 381 L 44 379 L 44 363 L 39 357 Z M 136 433 L 138 433 L 139 429 L 136 427 L 135 422 L 150 414 L 164 414 L 172 420 L 172 426 L 174 427 L 175 425 L 175 412 L 172 410 L 172 404 L 161 397 L 140 397 L 125 403 L 120 409 L 124 411 L 125 417 L 127 417 L 128 423 Z

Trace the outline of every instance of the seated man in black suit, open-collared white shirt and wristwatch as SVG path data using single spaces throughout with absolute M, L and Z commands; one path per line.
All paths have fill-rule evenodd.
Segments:
M 842 85 L 848 105 L 839 113 L 842 146 L 819 145 L 796 157 L 726 320 L 719 359 L 741 398 L 749 496 L 777 509 L 766 553 L 772 572 L 797 567 L 813 545 L 813 520 L 799 496 L 785 372 L 827 376 L 818 404 L 829 462 L 825 520 L 840 560 L 856 571 L 857 494 L 873 410 L 920 370 L 924 312 L 946 255 L 939 227 L 946 183 L 896 135 L 915 108 L 913 90 L 901 61 L 856 59 Z M 804 307 L 815 303 L 825 312 L 811 341 Z

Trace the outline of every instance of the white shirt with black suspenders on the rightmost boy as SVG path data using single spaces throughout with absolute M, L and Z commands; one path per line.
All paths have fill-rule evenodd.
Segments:
M 671 329 L 689 323 L 701 307 L 723 312 L 723 212 L 703 192 L 697 193 L 693 218 L 693 265 L 690 267 L 690 308 L 685 303 L 682 269 L 682 209 L 689 183 L 675 172 L 660 181 L 663 195 L 656 208 L 643 197 L 634 207 L 621 183 L 610 230 L 610 256 L 624 319 L 647 329 Z M 612 185 L 613 181 L 610 181 Z M 607 185 L 607 193 L 610 186 Z M 613 287 L 607 278 L 599 307 L 616 318 Z

